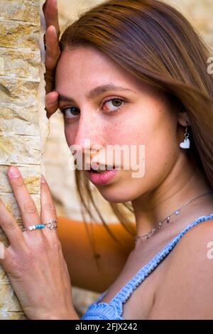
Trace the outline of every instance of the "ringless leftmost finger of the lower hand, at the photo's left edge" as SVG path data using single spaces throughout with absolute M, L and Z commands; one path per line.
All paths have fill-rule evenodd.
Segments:
M 14 249 L 24 247 L 23 233 L 0 199 L 0 227 Z

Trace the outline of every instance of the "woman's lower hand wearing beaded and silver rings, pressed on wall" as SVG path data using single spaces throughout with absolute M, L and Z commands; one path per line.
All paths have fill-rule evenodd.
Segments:
M 18 168 L 7 176 L 27 228 L 56 218 L 48 184 L 41 182 L 41 215 Z M 29 319 L 79 319 L 72 305 L 72 288 L 56 228 L 21 231 L 0 200 L 0 226 L 9 239 L 0 264 L 9 276 L 23 312 Z

